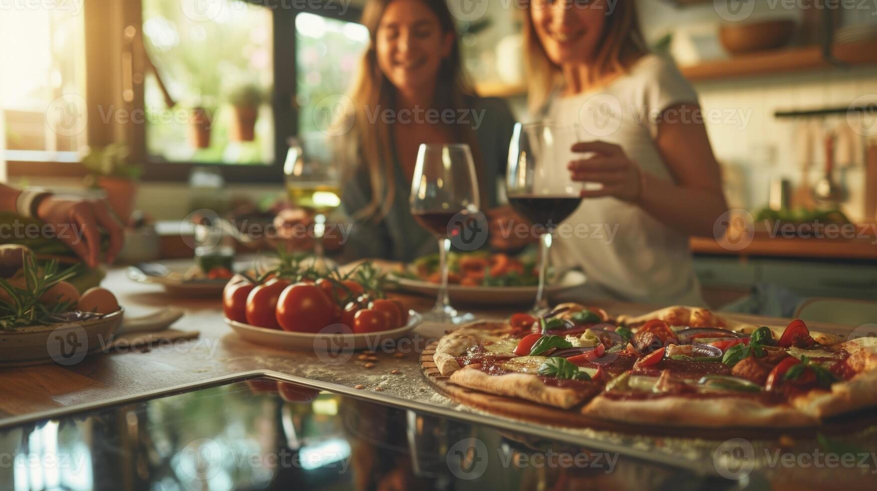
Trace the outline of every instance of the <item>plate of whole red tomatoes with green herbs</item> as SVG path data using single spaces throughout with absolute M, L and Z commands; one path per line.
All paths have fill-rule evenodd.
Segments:
M 369 261 L 342 274 L 282 256 L 259 279 L 235 275 L 223 291 L 223 313 L 241 338 L 260 345 L 376 349 L 420 323 L 416 312 L 385 297 L 385 286 L 386 276 Z

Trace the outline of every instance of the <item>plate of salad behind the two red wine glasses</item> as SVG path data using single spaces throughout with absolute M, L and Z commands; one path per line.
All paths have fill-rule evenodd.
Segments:
M 403 291 L 438 295 L 441 272 L 439 254 L 414 260 L 390 279 Z M 567 270 L 548 274 L 545 295 L 557 295 L 585 284 L 585 274 Z M 538 272 L 535 258 L 503 253 L 448 254 L 448 295 L 454 303 L 509 304 L 536 298 Z

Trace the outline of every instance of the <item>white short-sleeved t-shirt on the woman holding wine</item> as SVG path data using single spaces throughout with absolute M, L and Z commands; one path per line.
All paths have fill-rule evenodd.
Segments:
M 555 95 L 545 118 L 556 124 L 578 123 L 585 139 L 621 146 L 645 172 L 673 180 L 654 141 L 654 117 L 680 103 L 697 103 L 694 89 L 672 61 L 649 54 L 608 86 L 575 96 Z M 566 167 L 567 162 L 558 165 Z M 688 237 L 637 205 L 614 197 L 588 198 L 563 224 L 567 233 L 559 227 L 552 261 L 554 267 L 584 269 L 588 282 L 577 296 L 704 304 Z

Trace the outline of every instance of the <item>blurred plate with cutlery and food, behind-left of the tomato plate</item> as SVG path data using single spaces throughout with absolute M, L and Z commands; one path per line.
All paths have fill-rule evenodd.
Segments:
M 229 247 L 231 249 L 231 247 Z M 236 269 L 234 251 L 196 256 L 195 260 L 141 262 L 128 267 L 128 277 L 141 283 L 161 285 L 174 295 L 218 296 Z

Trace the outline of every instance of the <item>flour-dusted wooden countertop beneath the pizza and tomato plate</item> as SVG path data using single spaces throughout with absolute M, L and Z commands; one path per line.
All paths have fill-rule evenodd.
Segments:
M 156 394 L 239 374 L 258 373 L 288 381 L 318 381 L 326 388 L 384 403 L 405 403 L 408 407 L 437 412 L 452 410 L 453 414 L 460 415 L 461 418 L 481 417 L 474 409 L 460 407 L 435 392 L 420 373 L 418 352 L 431 340 L 439 338 L 447 326 L 419 326 L 412 337 L 412 343 L 399 344 L 398 350 L 375 352 L 377 361 L 374 361 L 372 368 L 366 366 L 366 360 L 360 359 L 359 353 L 343 364 L 330 364 L 313 352 L 288 352 L 246 343 L 226 326 L 218 300 L 172 298 L 158 286 L 128 280 L 124 270 L 120 268 L 111 270 L 104 286 L 117 292 L 119 302 L 125 306 L 126 316 L 136 317 L 168 306 L 185 310 L 186 316 L 175 324 L 175 329 L 201 331 L 200 338 L 178 341 L 172 345 L 154 345 L 151 349 L 98 353 L 75 366 L 45 365 L 0 369 L 0 387 L 3 388 L 3 397 L 0 397 L 0 426 L 33 418 L 46 411 L 112 403 L 122 398 Z M 417 308 L 423 310 L 431 306 L 431 302 L 431 299 L 425 298 L 414 300 Z M 615 315 L 643 313 L 653 307 L 631 303 L 606 303 L 602 306 Z M 479 313 L 481 317 L 500 318 L 507 316 L 510 311 L 484 310 Z M 759 324 L 786 324 L 782 319 L 738 317 Z M 812 327 L 838 333 L 848 330 L 844 326 L 830 324 L 814 324 Z M 396 355 L 398 352 L 402 354 Z M 490 417 L 500 423 L 521 424 L 500 416 Z M 536 428 L 540 426 L 536 423 L 528 424 Z M 581 442 L 581 445 L 588 448 L 638 448 L 640 453 L 652 453 L 655 459 L 702 473 L 714 472 L 712 455 L 721 443 L 702 438 L 644 438 L 589 429 L 543 428 Z M 875 435 L 877 428 L 871 428 L 857 434 L 853 441 L 856 445 L 867 448 L 868 452 L 875 452 Z M 753 441 L 753 445 L 757 449 L 767 449 L 774 443 Z M 794 442 L 794 445 L 802 445 L 800 452 L 813 452 L 816 443 L 802 439 Z M 757 468 L 759 466 L 761 464 Z M 868 479 L 873 478 L 867 473 L 869 470 L 877 471 L 859 468 L 818 471 L 771 468 L 763 472 L 770 480 L 788 487 L 802 484 L 813 487 L 818 486 L 819 482 L 828 486 L 840 480 L 849 483 L 848 487 L 865 488 L 870 482 Z

